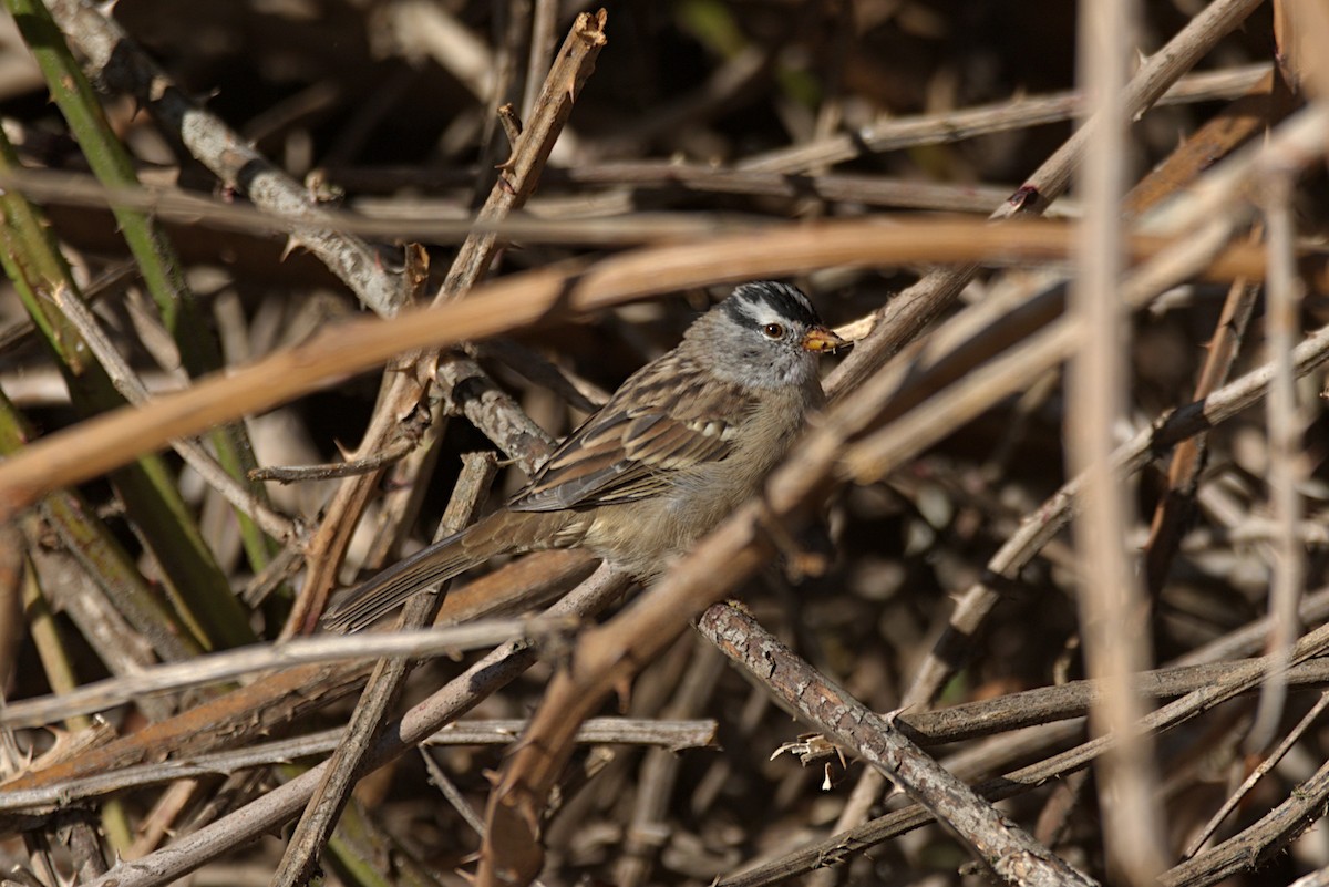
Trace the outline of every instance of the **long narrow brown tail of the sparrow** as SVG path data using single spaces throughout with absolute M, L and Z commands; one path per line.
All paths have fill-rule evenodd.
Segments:
M 407 598 L 464 574 L 502 552 L 532 551 L 548 515 L 498 511 L 461 532 L 399 560 L 334 602 L 323 625 L 354 632 L 372 624 Z

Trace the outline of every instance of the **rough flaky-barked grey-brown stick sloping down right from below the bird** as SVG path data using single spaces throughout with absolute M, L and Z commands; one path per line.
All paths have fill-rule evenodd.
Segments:
M 1094 884 L 978 798 L 896 729 L 731 604 L 698 620 L 702 635 L 746 668 L 815 729 L 835 736 L 964 839 L 969 851 L 1013 884 Z

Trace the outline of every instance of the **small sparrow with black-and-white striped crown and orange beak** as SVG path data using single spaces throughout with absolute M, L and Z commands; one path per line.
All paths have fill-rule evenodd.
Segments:
M 582 547 L 651 579 L 756 490 L 825 400 L 817 355 L 845 344 L 797 288 L 738 287 L 633 373 L 505 509 L 352 590 L 324 624 L 361 628 L 505 552 Z

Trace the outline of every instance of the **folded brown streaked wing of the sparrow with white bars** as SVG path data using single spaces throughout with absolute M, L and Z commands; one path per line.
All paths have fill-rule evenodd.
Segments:
M 703 377 L 695 366 L 629 378 L 565 440 L 513 511 L 557 511 L 635 502 L 668 489 L 671 475 L 726 458 L 752 406 L 748 392 Z M 703 384 L 704 382 L 704 384 Z

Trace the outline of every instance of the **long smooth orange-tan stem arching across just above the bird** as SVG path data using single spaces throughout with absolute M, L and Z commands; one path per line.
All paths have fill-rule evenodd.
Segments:
M 1176 248 L 1171 239 L 1158 236 L 1136 236 L 1131 243 L 1136 258 Z M 920 255 L 938 262 L 969 262 L 985 255 L 1033 262 L 1063 258 L 1067 248 L 1067 230 L 1053 222 L 989 226 L 920 220 L 910 228 L 882 228 L 870 220 L 825 222 L 760 238 L 643 248 L 590 267 L 573 263 L 510 275 L 486 284 L 482 297 L 404 312 L 389 321 L 348 321 L 225 377 L 213 376 L 186 392 L 154 398 L 146 408 L 113 410 L 35 441 L 0 463 L 0 518 L 54 487 L 104 474 L 171 438 L 270 409 L 404 351 L 493 336 L 550 312 L 583 313 L 692 285 L 793 275 L 835 264 L 892 264 Z M 1203 278 L 1231 280 L 1263 274 L 1263 251 L 1237 246 L 1205 268 Z

